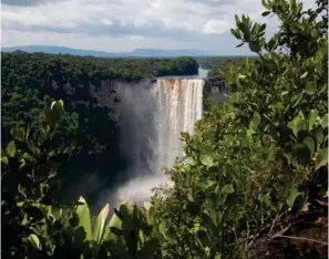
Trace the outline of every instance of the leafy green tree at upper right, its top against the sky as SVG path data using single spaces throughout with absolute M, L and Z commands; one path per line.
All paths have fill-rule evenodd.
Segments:
M 256 110 L 264 121 L 258 131 L 269 133 L 289 160 L 292 153 L 309 165 L 311 157 L 328 145 L 322 138 L 328 125 L 321 123 L 321 117 L 328 116 L 328 71 L 322 69 L 328 39 L 322 22 L 316 20 L 325 9 L 304 11 L 296 1 L 269 1 L 264 6 L 268 10 L 264 14 L 273 12 L 281 20 L 280 31 L 266 42 L 265 24 L 236 17 L 235 37 L 248 43 L 260 59 L 246 61 L 237 76 L 228 73 L 226 80 L 244 92 L 244 100 L 236 104 L 241 122 L 246 124 L 245 118 Z M 312 40 L 305 41 L 307 35 L 313 35 Z

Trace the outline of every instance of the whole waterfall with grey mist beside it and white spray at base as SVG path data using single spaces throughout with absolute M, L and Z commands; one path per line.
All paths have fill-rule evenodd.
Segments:
M 115 85 L 122 104 L 120 151 L 128 160 L 123 175 L 130 179 L 102 193 L 100 204 L 116 207 L 127 200 L 142 205 L 153 188 L 173 185 L 162 167 L 171 167 L 183 154 L 181 132 L 192 133 L 202 117 L 203 87 L 204 80 L 195 76 Z

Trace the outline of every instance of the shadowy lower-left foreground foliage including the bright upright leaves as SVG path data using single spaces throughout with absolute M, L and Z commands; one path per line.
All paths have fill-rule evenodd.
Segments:
M 51 141 L 64 113 L 61 100 L 44 111 L 38 142 L 31 139 L 29 128 L 11 131 L 14 141 L 1 159 L 8 166 L 2 175 L 2 229 L 7 232 L 2 255 L 34 259 L 152 258 L 158 241 L 145 208 L 122 204 L 107 220 L 106 204 L 92 224 L 83 197 L 71 206 L 58 203 L 54 179 L 68 148 L 52 146 Z

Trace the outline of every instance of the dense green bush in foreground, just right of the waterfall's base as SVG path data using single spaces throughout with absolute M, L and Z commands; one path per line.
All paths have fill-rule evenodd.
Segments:
M 195 134 L 184 137 L 187 159 L 168 172 L 175 186 L 165 199 L 155 197 L 157 217 L 173 235 L 162 249 L 172 257 L 234 257 L 245 249 L 241 241 L 288 209 L 282 194 L 307 177 L 306 168 L 286 164 L 270 138 L 263 146 L 248 136 L 228 106 L 213 106 Z

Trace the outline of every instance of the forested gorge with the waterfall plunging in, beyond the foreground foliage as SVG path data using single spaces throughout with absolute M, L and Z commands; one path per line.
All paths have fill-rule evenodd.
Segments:
M 16 125 L 30 124 L 37 133 L 43 108 L 63 100 L 66 115 L 54 143 L 74 143 L 78 149 L 58 172 L 64 183 L 60 198 L 82 195 L 95 210 L 109 199 L 148 198 L 147 186 L 168 183 L 161 167 L 171 167 L 182 154 L 179 133 L 193 131 L 208 97 L 223 97 L 223 89 L 208 82 L 207 71 L 187 56 L 12 52 L 2 53 L 1 64 L 4 145 Z M 145 195 L 137 195 L 138 189 Z

